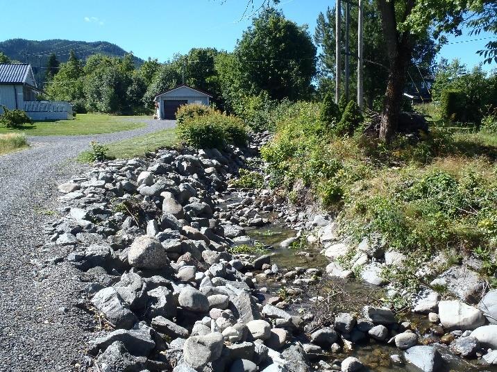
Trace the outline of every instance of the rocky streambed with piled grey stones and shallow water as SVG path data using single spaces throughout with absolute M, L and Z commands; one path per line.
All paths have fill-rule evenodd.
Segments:
M 351 280 L 330 217 L 228 187 L 265 141 L 101 162 L 60 185 L 47 248 L 81 270 L 94 319 L 76 369 L 497 371 L 490 310 L 426 291 L 417 315 L 395 314 L 376 268 L 400 253 L 368 239 Z

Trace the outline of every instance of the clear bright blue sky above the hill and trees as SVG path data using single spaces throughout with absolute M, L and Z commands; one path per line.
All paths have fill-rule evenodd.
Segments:
M 282 0 L 280 8 L 289 19 L 308 24 L 314 34 L 317 15 L 334 4 L 335 0 Z M 242 17 L 245 7 L 246 0 L 23 0 L 22 6 L 18 1 L 0 0 L 0 41 L 15 37 L 104 40 L 140 58 L 162 62 L 192 47 L 233 50 L 251 23 Z M 477 65 L 481 58 L 475 51 L 488 40 L 462 41 L 487 36 L 450 37 L 450 42 L 458 44 L 446 45 L 438 58 L 460 58 L 469 67 Z

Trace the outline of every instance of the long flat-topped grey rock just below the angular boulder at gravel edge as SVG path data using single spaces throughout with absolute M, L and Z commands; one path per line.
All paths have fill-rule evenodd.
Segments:
M 136 330 L 115 330 L 90 342 L 97 350 L 105 350 L 115 341 L 122 342 L 131 354 L 140 357 L 149 356 L 151 350 L 155 348 L 151 328 L 141 324 Z

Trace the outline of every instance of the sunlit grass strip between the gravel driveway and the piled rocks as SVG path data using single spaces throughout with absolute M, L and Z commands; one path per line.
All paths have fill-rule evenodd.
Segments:
M 165 147 L 176 146 L 178 140 L 176 130 L 164 129 L 140 137 L 106 144 L 108 158 L 128 159 L 142 157 L 149 151 L 157 151 Z M 90 151 L 84 151 L 78 156 L 78 161 L 87 162 Z

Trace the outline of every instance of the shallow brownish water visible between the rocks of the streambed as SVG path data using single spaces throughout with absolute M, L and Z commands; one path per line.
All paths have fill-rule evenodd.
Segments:
M 221 203 L 220 206 L 223 208 L 230 203 L 237 203 L 241 200 L 242 199 L 238 196 L 224 196 L 224 202 Z M 264 217 L 271 218 L 273 215 L 265 214 Z M 262 228 L 246 228 L 246 235 L 251 237 L 254 242 L 258 241 L 266 246 L 271 246 L 271 253 L 273 253 L 271 262 L 276 263 L 280 269 L 295 269 L 296 267 L 304 267 L 305 269 L 317 268 L 324 272 L 326 265 L 329 263 L 328 259 L 319 253 L 319 248 L 317 246 L 313 246 L 312 244 L 308 244 L 305 248 L 281 248 L 280 242 L 283 242 L 283 240 L 289 237 L 295 237 L 296 231 L 278 223 L 270 223 Z M 311 257 L 299 255 L 302 251 L 310 253 Z M 265 296 L 270 297 L 275 296 L 278 289 L 287 285 L 299 287 L 292 285 L 292 280 L 289 280 L 288 283 L 282 283 L 272 279 L 271 277 L 268 277 L 268 279 L 264 282 L 260 282 L 258 287 L 267 287 L 268 293 Z M 344 301 L 350 301 L 345 304 L 345 308 L 348 312 L 359 311 L 362 305 L 385 297 L 385 290 L 380 287 L 367 285 L 366 283 L 358 280 L 329 278 L 326 276 L 326 273 L 316 284 L 309 286 L 302 285 L 300 287 L 305 289 L 303 296 L 301 296 L 304 301 L 302 303 L 291 305 L 289 309 L 287 309 L 290 313 L 296 313 L 299 309 L 312 311 L 312 303 L 309 301 L 310 298 L 314 296 L 326 296 L 330 292 L 336 293 L 337 291 L 343 291 Z M 347 294 L 347 298 L 345 298 L 345 294 Z M 406 314 L 405 316 L 402 316 L 401 319 L 410 321 L 412 323 L 412 327 L 419 331 L 430 327 L 427 317 L 419 314 Z M 497 366 L 483 366 L 478 362 L 478 360 L 463 360 L 462 358 L 456 357 L 455 355 L 449 353 L 448 348 L 441 344 L 432 344 L 432 346 L 437 347 L 442 357 L 444 357 L 444 360 L 447 362 L 447 368 L 444 371 L 435 372 L 497 372 Z M 323 360 L 329 364 L 332 364 L 332 361 L 335 359 L 343 360 L 345 357 L 353 356 L 361 360 L 364 366 L 366 366 L 366 368 L 362 371 L 418 371 L 413 366 L 394 364 L 394 362 L 390 359 L 390 355 L 395 354 L 403 357 L 403 351 L 399 350 L 395 346 L 380 344 L 376 341 L 369 341 L 368 344 L 355 344 L 353 346 L 353 350 L 348 353 L 328 355 L 328 357 L 323 358 Z M 317 367 L 317 370 L 319 370 L 319 367 Z

